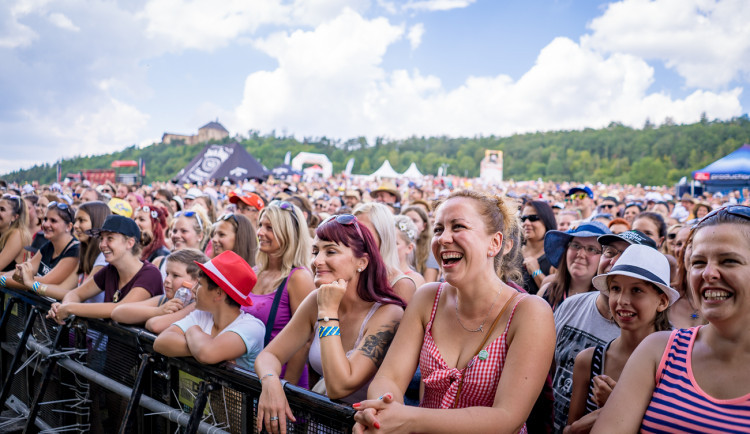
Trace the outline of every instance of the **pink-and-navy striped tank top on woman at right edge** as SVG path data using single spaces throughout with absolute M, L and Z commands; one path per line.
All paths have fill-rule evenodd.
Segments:
M 641 422 L 642 433 L 750 432 L 750 394 L 716 399 L 695 381 L 690 360 L 700 327 L 675 330 L 669 337 Z

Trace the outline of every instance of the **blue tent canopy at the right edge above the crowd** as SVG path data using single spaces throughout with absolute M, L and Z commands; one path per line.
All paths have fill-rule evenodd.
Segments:
M 744 144 L 731 154 L 693 172 L 709 191 L 742 190 L 750 187 L 750 145 Z

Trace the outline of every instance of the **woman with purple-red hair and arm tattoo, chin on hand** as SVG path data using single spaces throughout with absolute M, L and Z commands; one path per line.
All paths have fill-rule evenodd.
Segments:
M 332 216 L 315 231 L 314 283 L 277 339 L 255 362 L 263 384 L 258 426 L 284 432 L 294 421 L 281 366 L 313 337 L 310 365 L 322 377 L 314 391 L 361 401 L 396 333 L 406 304 L 388 284 L 388 271 L 370 231 L 353 215 Z

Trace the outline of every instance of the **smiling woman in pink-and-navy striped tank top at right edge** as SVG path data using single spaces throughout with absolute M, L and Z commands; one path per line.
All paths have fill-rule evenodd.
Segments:
M 593 432 L 750 432 L 750 207 L 693 231 L 689 293 L 708 325 L 647 337 Z

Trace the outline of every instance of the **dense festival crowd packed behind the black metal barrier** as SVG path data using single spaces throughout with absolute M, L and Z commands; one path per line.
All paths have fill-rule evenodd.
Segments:
M 0 182 L 0 286 L 351 405 L 355 432 L 747 432 L 748 192 Z M 691 415 L 686 418 L 685 415 Z

